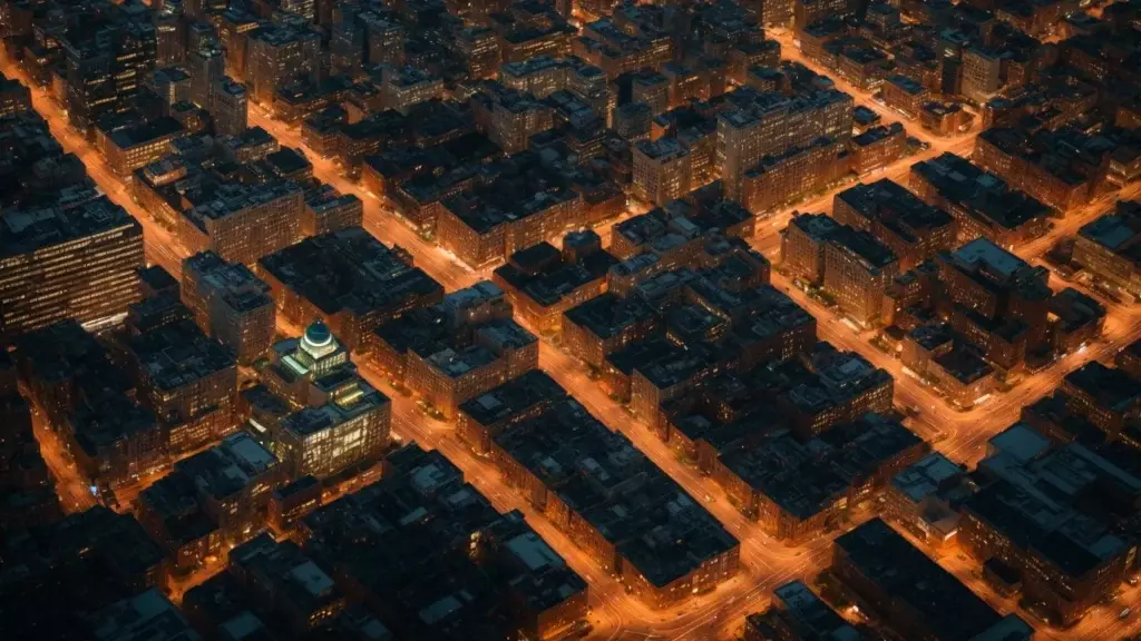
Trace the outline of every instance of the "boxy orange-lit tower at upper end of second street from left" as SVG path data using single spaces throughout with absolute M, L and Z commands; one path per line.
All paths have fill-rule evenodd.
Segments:
M 246 81 L 258 104 L 272 105 L 290 81 L 316 78 L 321 36 L 315 31 L 266 25 L 250 34 L 248 47 Z

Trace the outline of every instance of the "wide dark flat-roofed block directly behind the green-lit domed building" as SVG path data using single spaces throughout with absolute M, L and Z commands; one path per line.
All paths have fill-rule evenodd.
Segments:
M 367 336 L 383 323 L 444 299 L 444 289 L 411 257 L 361 227 L 272 253 L 258 261 L 256 274 L 269 283 L 283 319 L 306 325 L 318 318 L 349 350 L 367 349 Z

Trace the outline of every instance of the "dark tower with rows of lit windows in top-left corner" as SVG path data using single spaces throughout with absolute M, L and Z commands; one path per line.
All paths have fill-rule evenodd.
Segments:
M 116 8 L 67 31 L 66 108 L 75 129 L 90 136 L 108 113 L 126 111 L 155 66 L 154 25 Z

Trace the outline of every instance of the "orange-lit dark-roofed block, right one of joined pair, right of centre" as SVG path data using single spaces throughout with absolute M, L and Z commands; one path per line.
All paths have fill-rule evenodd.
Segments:
M 824 289 L 861 325 L 880 320 L 884 292 L 898 275 L 891 248 L 867 232 L 841 226 L 824 245 Z

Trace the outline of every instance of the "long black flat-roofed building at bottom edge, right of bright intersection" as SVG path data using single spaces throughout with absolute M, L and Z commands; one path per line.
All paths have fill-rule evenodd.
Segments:
M 832 571 L 906 639 L 1028 641 L 1034 628 L 1003 617 L 879 518 L 835 539 Z

